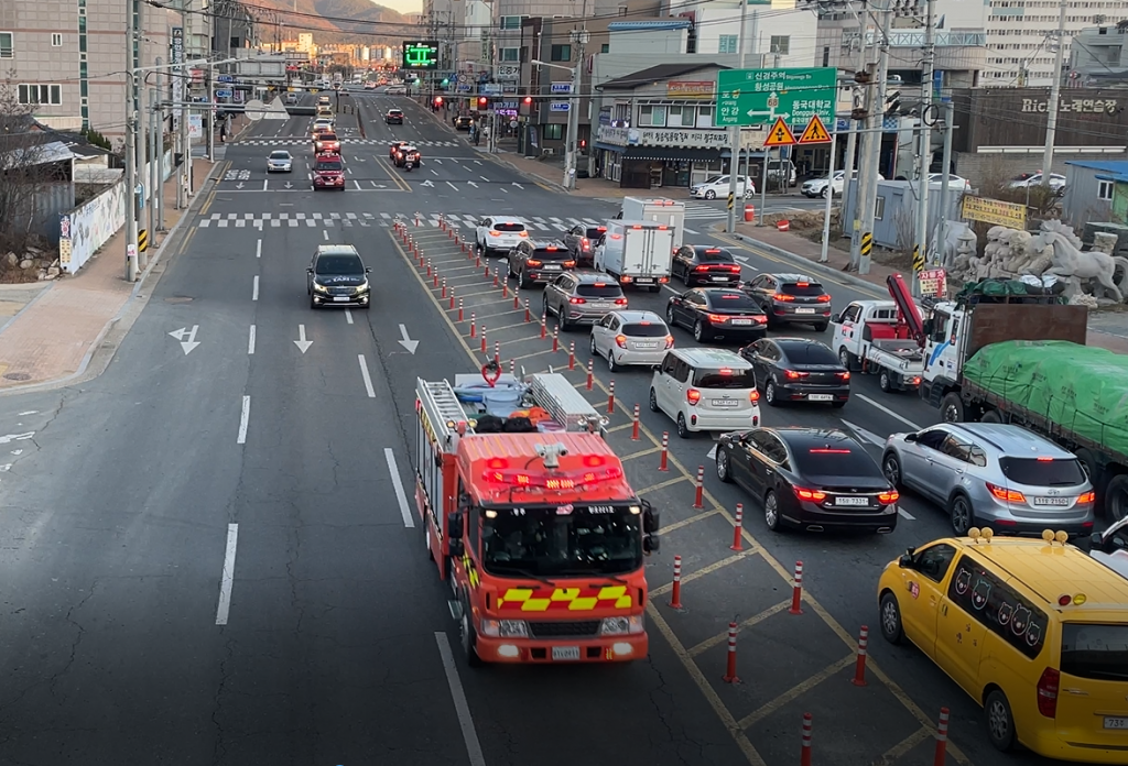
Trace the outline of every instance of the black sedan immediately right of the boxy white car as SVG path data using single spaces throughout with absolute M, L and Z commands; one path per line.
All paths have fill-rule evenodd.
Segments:
M 849 372 L 830 347 L 810 338 L 763 338 L 740 349 L 752 363 L 764 401 L 778 407 L 788 401 L 849 401 Z

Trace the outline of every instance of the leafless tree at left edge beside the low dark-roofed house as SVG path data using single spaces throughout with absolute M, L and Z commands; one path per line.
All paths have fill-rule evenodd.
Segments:
M 19 253 L 36 234 L 37 197 L 52 180 L 44 151 L 50 139 L 33 130 L 34 122 L 11 79 L 0 81 L 0 252 Z

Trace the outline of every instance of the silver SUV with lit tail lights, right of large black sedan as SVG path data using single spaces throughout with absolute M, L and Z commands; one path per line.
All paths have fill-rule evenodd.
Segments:
M 1002 534 L 1093 531 L 1093 486 L 1077 457 L 1019 426 L 941 424 L 893 434 L 881 458 L 885 478 L 948 509 L 952 529 Z

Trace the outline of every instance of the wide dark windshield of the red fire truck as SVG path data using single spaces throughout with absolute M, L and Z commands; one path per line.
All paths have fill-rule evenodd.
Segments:
M 528 506 L 482 511 L 487 572 L 539 577 L 623 574 L 642 565 L 638 506 Z

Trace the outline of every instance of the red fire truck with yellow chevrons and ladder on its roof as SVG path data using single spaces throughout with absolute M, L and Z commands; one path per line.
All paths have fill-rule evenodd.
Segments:
M 603 439 L 606 418 L 563 375 L 476 377 L 420 380 L 415 406 L 415 499 L 467 661 L 645 658 L 659 515 Z

